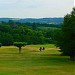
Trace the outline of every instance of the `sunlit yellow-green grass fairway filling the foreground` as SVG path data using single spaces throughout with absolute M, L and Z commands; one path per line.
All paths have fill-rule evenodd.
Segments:
M 39 47 L 46 50 L 39 51 Z M 60 56 L 54 45 L 28 45 L 18 48 L 0 48 L 0 75 L 74 75 L 74 62 Z

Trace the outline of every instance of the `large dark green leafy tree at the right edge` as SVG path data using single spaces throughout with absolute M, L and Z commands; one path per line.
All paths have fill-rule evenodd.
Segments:
M 75 60 L 75 8 L 64 17 L 64 24 L 57 39 L 57 46 L 64 55 Z

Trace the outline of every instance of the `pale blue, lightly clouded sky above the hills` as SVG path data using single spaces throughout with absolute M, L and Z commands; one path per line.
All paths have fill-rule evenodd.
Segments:
M 1 18 L 64 17 L 75 0 L 0 0 Z

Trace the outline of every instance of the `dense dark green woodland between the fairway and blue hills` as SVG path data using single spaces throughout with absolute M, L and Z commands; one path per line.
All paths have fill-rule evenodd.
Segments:
M 38 29 L 39 26 L 43 26 L 43 24 L 20 23 L 12 20 L 0 22 L 0 43 L 4 46 L 13 45 L 14 42 L 26 42 L 27 44 L 54 43 L 54 36 L 59 28 L 42 31 Z

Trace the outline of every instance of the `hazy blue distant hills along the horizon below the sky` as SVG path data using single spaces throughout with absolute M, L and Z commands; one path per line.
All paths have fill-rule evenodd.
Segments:
M 35 23 L 63 23 L 64 18 L 0 18 L 0 22 L 8 22 L 9 20 L 13 20 L 14 22 L 21 22 L 21 23 L 26 23 L 26 22 L 35 22 Z

